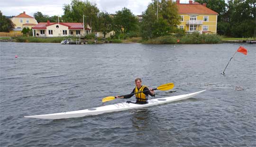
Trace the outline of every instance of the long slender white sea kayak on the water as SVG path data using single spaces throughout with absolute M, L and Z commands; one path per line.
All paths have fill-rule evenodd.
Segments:
M 165 104 L 165 103 L 178 101 L 178 100 L 182 100 L 182 99 L 192 98 L 203 91 L 205 91 L 205 90 L 190 93 L 190 94 L 173 96 L 173 97 L 149 99 L 148 103 L 143 104 L 143 105 L 124 102 L 124 103 L 113 104 L 113 105 L 108 105 L 108 106 L 100 106 L 100 107 L 84 109 L 84 110 L 62 112 L 62 113 L 55 113 L 55 114 L 31 115 L 31 116 L 24 116 L 24 117 L 55 120 L 55 119 L 83 117 L 83 116 L 88 116 L 88 115 L 98 115 L 98 114 L 117 112 L 117 111 L 123 111 L 123 110 L 128 110 L 128 109 L 136 109 L 136 108 L 143 108 L 143 107 L 147 107 L 147 106 L 155 106 L 155 105 Z

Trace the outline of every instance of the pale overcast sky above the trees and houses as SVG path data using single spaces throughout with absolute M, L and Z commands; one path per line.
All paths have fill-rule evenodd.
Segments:
M 70 4 L 72 0 L 0 0 L 0 10 L 5 16 L 17 16 L 23 11 L 33 16 L 36 12 L 42 12 L 43 15 L 62 16 L 64 4 Z M 84 0 L 82 0 L 84 1 Z M 115 13 L 126 7 L 133 14 L 141 15 L 146 10 L 147 5 L 152 0 L 89 0 L 96 4 L 100 11 Z M 174 0 L 175 1 L 175 0 Z M 181 3 L 188 3 L 189 0 L 181 0 Z

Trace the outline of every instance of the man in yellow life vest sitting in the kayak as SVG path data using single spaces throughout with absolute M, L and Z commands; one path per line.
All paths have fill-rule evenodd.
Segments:
M 133 89 L 133 91 L 131 92 L 131 94 L 128 94 L 126 96 L 120 97 L 120 96 L 116 96 L 116 98 L 131 98 L 135 93 L 136 96 L 136 103 L 135 104 L 147 104 L 147 100 L 148 100 L 148 95 L 155 97 L 155 92 L 152 88 L 147 88 L 145 85 L 141 85 L 142 81 L 141 78 L 136 78 L 135 79 L 135 85 L 136 87 Z M 140 91 L 144 91 L 141 93 L 137 93 Z M 127 103 L 132 103 L 131 101 L 127 101 Z

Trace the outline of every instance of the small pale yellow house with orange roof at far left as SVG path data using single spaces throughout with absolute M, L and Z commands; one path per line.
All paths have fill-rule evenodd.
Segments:
M 37 20 L 23 12 L 18 16 L 10 18 L 10 20 L 15 24 L 15 29 L 13 31 L 22 31 L 24 27 L 31 29 L 33 26 L 37 25 Z

